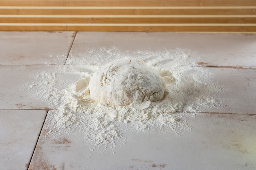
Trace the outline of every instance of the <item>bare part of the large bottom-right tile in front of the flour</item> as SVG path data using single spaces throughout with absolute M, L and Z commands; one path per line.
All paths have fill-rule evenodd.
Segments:
M 48 129 L 43 129 L 45 134 L 40 136 L 29 170 L 255 170 L 256 115 L 201 114 L 191 118 L 188 114 L 184 117 L 192 132 L 178 136 L 161 130 L 146 134 L 128 130 L 131 140 L 115 154 L 107 150 L 91 157 L 75 132 L 57 137 L 47 136 Z

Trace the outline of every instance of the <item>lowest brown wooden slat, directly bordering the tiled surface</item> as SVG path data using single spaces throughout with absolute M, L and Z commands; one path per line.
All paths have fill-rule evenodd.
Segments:
M 256 26 L 0 26 L 1 31 L 143 31 L 256 33 Z

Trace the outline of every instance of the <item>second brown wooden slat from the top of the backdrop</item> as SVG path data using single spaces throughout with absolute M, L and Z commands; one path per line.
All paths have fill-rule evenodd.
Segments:
M 0 15 L 256 15 L 250 9 L 0 9 Z

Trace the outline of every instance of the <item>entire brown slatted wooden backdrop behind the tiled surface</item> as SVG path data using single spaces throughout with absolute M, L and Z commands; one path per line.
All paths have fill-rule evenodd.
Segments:
M 256 33 L 256 0 L 0 0 L 0 31 Z

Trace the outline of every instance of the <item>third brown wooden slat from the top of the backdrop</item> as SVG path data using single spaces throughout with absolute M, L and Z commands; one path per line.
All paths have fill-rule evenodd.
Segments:
M 254 24 L 256 23 L 256 17 L 254 18 L 1 18 L 1 23 L 61 23 L 61 24 Z

